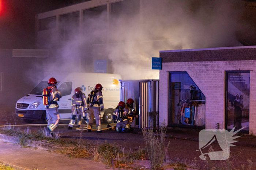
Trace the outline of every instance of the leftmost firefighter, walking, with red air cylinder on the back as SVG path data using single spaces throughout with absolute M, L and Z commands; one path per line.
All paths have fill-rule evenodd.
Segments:
M 58 126 L 60 119 L 57 101 L 61 98 L 61 94 L 57 90 L 56 84 L 56 79 L 50 78 L 48 87 L 44 89 L 42 94 L 48 119 L 47 130 L 50 134 L 53 134 L 52 132 Z

